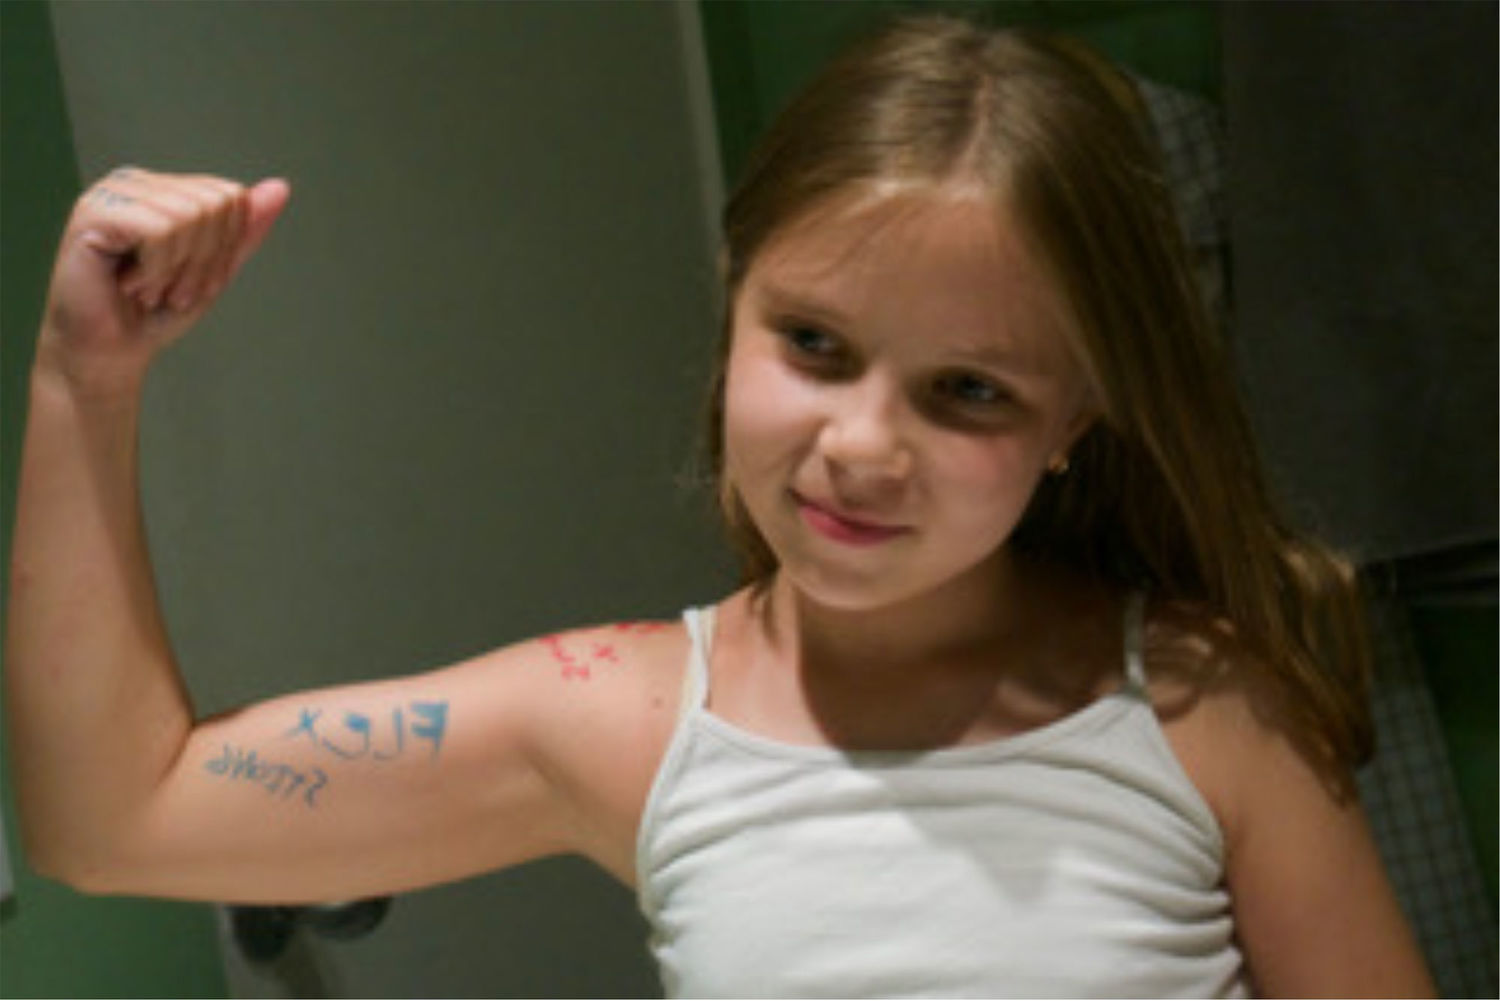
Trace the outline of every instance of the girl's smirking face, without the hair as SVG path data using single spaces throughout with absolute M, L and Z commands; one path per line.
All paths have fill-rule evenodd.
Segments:
M 988 200 L 814 213 L 754 258 L 732 321 L 724 476 L 830 606 L 987 575 L 1092 419 L 1064 311 Z

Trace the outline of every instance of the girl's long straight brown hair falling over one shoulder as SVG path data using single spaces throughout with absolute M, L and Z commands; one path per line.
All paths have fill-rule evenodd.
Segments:
M 780 116 L 724 210 L 710 474 L 750 582 L 776 557 L 723 476 L 729 315 L 756 254 L 838 197 L 978 185 L 1008 206 L 1072 312 L 1101 419 L 1046 477 L 1017 552 L 1204 606 L 1269 668 L 1334 765 L 1368 756 L 1370 653 L 1347 561 L 1276 512 L 1126 78 L 1074 41 L 909 18 Z

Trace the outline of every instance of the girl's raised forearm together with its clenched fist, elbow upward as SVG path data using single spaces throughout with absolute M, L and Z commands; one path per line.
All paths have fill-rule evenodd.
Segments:
M 6 648 L 22 827 L 42 870 L 87 884 L 192 725 L 141 525 L 141 387 L 286 198 L 274 180 L 120 170 L 63 233 L 32 372 Z

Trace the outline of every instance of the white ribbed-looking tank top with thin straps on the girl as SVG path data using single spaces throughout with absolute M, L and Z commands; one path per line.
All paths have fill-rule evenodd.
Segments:
M 669 996 L 1246 996 L 1222 839 L 1126 683 L 976 746 L 780 743 L 706 708 L 712 609 L 640 822 Z

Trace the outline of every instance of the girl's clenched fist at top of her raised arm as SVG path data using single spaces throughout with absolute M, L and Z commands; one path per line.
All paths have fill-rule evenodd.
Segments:
M 74 206 L 48 291 L 38 365 L 75 389 L 138 387 L 152 357 L 230 284 L 290 188 L 120 168 Z

